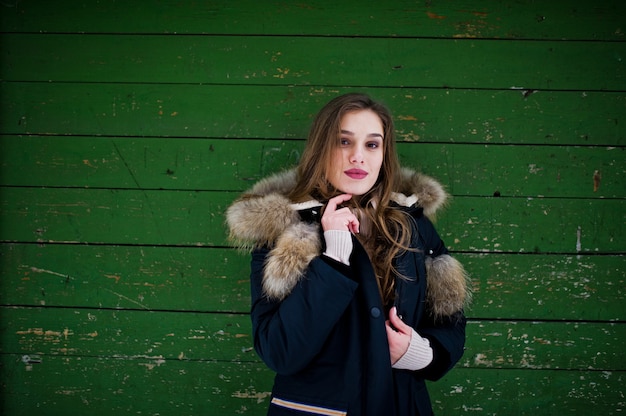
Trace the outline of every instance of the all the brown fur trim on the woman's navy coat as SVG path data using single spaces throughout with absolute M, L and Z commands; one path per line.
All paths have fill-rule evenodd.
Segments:
M 239 248 L 272 247 L 265 264 L 263 289 L 269 298 L 277 300 L 289 295 L 309 262 L 322 250 L 319 225 L 303 222 L 298 213 L 322 204 L 292 203 L 286 195 L 295 185 L 295 170 L 270 176 L 245 192 L 226 212 L 230 238 Z M 439 182 L 410 169 L 402 169 L 400 185 L 401 192 L 393 194 L 393 201 L 404 207 L 419 206 L 431 219 L 448 199 Z M 469 296 L 467 276 L 460 263 L 443 255 L 429 259 L 426 266 L 431 312 L 450 316 L 462 309 Z M 436 287 L 431 287 L 433 284 Z

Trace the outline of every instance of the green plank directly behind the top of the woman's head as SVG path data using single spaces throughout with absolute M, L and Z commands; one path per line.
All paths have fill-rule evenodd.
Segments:
M 368 89 L 409 142 L 620 145 L 623 93 Z M 3 134 L 302 139 L 353 88 L 0 83 Z M 585 114 L 585 117 L 580 117 Z

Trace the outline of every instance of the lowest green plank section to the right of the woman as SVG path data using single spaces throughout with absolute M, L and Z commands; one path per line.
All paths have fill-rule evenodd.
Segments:
M 428 389 L 436 414 L 621 415 L 625 381 L 623 371 L 456 368 Z

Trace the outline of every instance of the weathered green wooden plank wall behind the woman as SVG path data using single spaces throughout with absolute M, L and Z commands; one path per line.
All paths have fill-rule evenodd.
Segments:
M 439 415 L 626 411 L 626 2 L 0 3 L 0 413 L 262 415 L 224 209 L 365 91 L 454 195 Z

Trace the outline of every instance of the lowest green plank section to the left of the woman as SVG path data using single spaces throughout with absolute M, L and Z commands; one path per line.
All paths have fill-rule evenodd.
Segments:
M 0 360 L 2 409 L 11 416 L 260 416 L 273 379 L 260 363 L 14 354 Z

